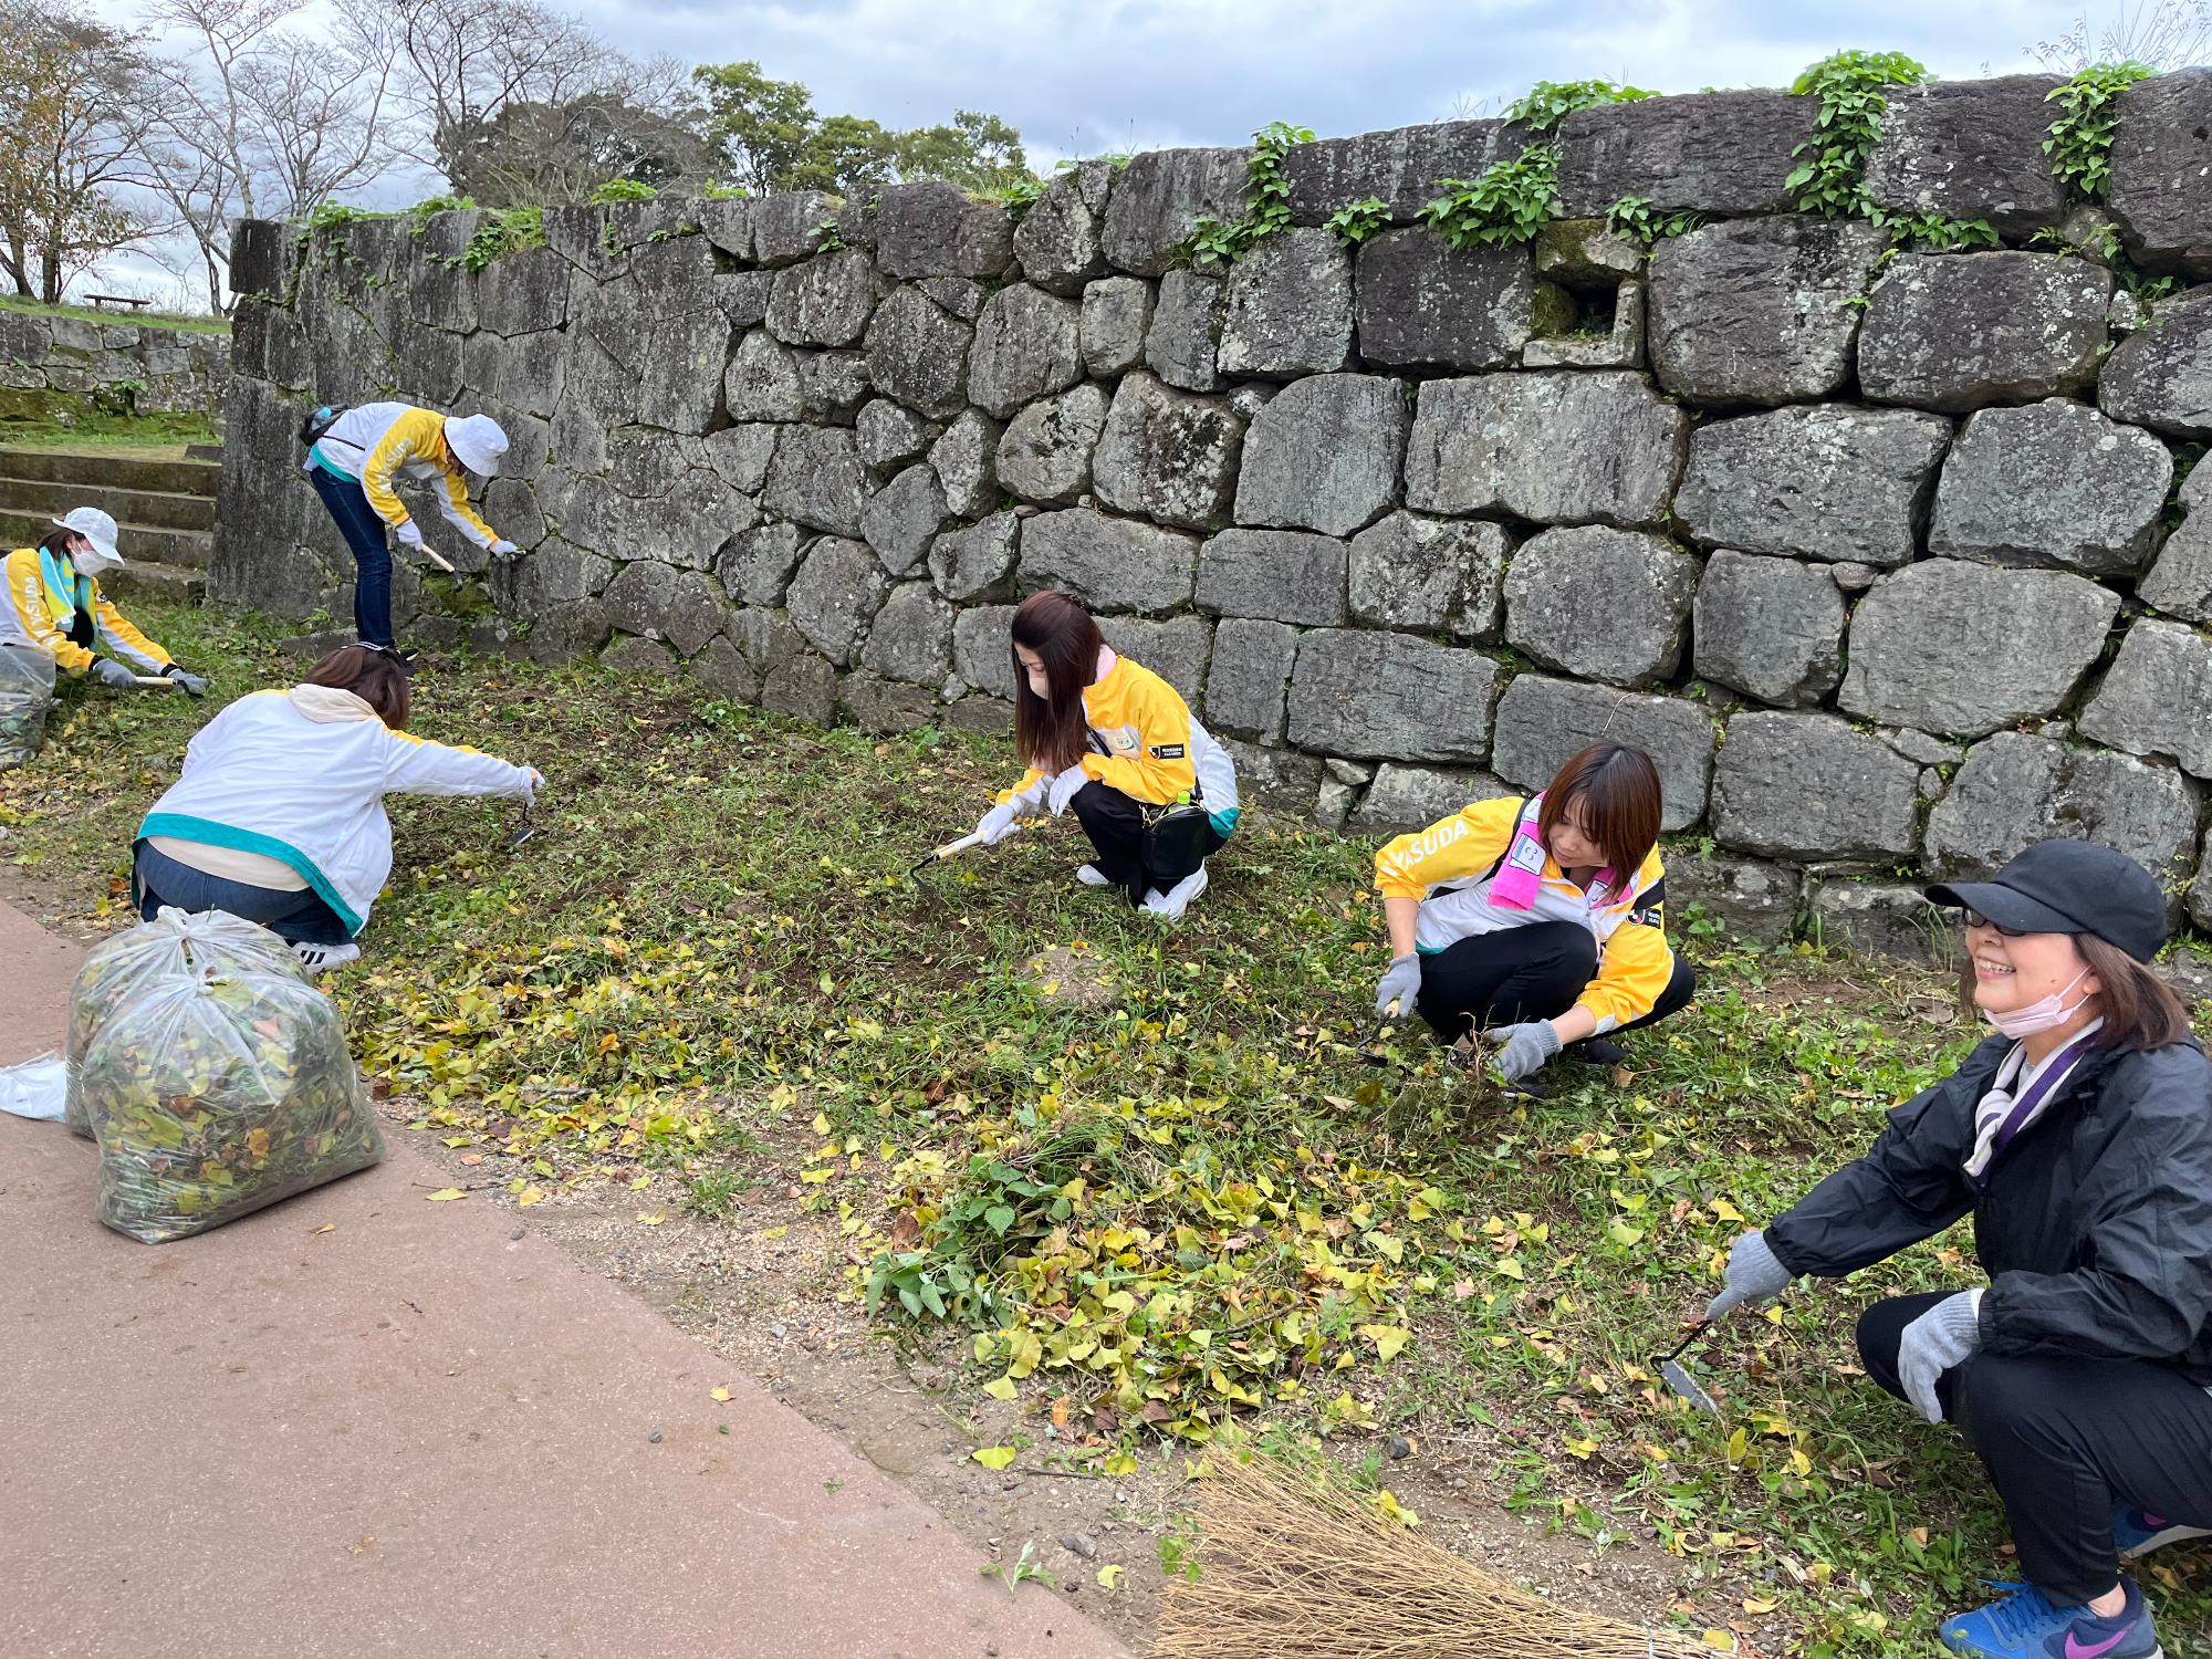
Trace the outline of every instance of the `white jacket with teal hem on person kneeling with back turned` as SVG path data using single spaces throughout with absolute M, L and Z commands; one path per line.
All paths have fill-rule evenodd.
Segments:
M 394 732 L 347 690 L 252 692 L 208 721 L 139 825 L 276 858 L 358 933 L 392 876 L 387 794 L 520 794 L 533 772 Z

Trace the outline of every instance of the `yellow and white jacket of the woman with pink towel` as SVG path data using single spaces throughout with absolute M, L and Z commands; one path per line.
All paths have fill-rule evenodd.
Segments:
M 1491 880 L 1524 805 L 1520 799 L 1475 801 L 1418 834 L 1398 836 L 1376 854 L 1376 887 L 1383 898 L 1420 900 L 1413 947 L 1422 956 L 1506 927 L 1579 922 L 1597 940 L 1597 978 L 1575 998 L 1577 1006 L 1597 1015 L 1599 1031 L 1641 1020 L 1674 975 L 1661 914 L 1666 867 L 1659 849 L 1650 849 L 1626 889 L 1601 894 L 1597 905 L 1548 854 L 1528 909 L 1493 905 Z

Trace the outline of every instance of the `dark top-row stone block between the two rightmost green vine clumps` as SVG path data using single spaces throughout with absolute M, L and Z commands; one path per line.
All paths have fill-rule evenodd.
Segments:
M 2044 139 L 2057 75 L 1995 75 L 1891 86 L 1882 135 L 1867 153 L 1867 197 L 1898 215 L 1986 219 L 2031 237 L 2066 217 Z

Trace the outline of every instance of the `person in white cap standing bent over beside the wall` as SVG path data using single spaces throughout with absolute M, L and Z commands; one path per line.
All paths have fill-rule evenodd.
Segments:
M 327 416 L 327 418 L 325 418 Z M 385 531 L 403 546 L 422 546 L 422 529 L 407 515 L 392 482 L 436 478 L 445 491 L 438 511 L 447 524 L 495 560 L 518 553 L 469 507 L 465 473 L 491 478 L 507 453 L 507 434 L 491 416 L 447 418 L 411 403 L 361 403 L 352 409 L 319 409 L 301 431 L 310 438 L 301 471 L 323 498 L 345 546 L 354 553 L 354 628 L 361 644 L 394 650 L 392 637 L 392 549 Z

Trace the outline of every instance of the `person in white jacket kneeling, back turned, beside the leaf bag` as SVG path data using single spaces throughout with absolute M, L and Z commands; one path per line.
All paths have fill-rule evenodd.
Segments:
M 223 909 L 290 940 L 310 969 L 352 962 L 392 874 L 387 794 L 529 801 L 544 783 L 405 728 L 407 670 L 367 646 L 330 653 L 288 692 L 230 703 L 139 825 L 139 914 Z

